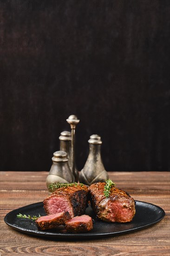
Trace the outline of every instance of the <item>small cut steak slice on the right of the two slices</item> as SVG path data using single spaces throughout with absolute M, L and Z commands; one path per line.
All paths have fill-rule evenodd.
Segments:
M 65 228 L 71 233 L 83 233 L 92 230 L 92 218 L 88 215 L 76 216 L 65 223 Z

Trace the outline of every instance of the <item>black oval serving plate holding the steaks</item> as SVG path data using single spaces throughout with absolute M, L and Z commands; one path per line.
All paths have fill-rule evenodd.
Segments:
M 93 239 L 98 237 L 116 236 L 124 233 L 134 232 L 139 229 L 145 229 L 163 219 L 165 212 L 157 205 L 136 201 L 136 214 L 131 222 L 126 223 L 108 223 L 95 219 L 91 207 L 86 209 L 86 214 L 94 219 L 93 229 L 88 233 L 71 234 L 67 233 L 63 226 L 56 229 L 39 231 L 34 221 L 29 219 L 17 218 L 17 214 L 26 214 L 31 216 L 46 215 L 43 209 L 43 202 L 37 202 L 26 205 L 19 209 L 9 212 L 4 221 L 18 231 L 33 236 L 43 236 L 57 239 Z

